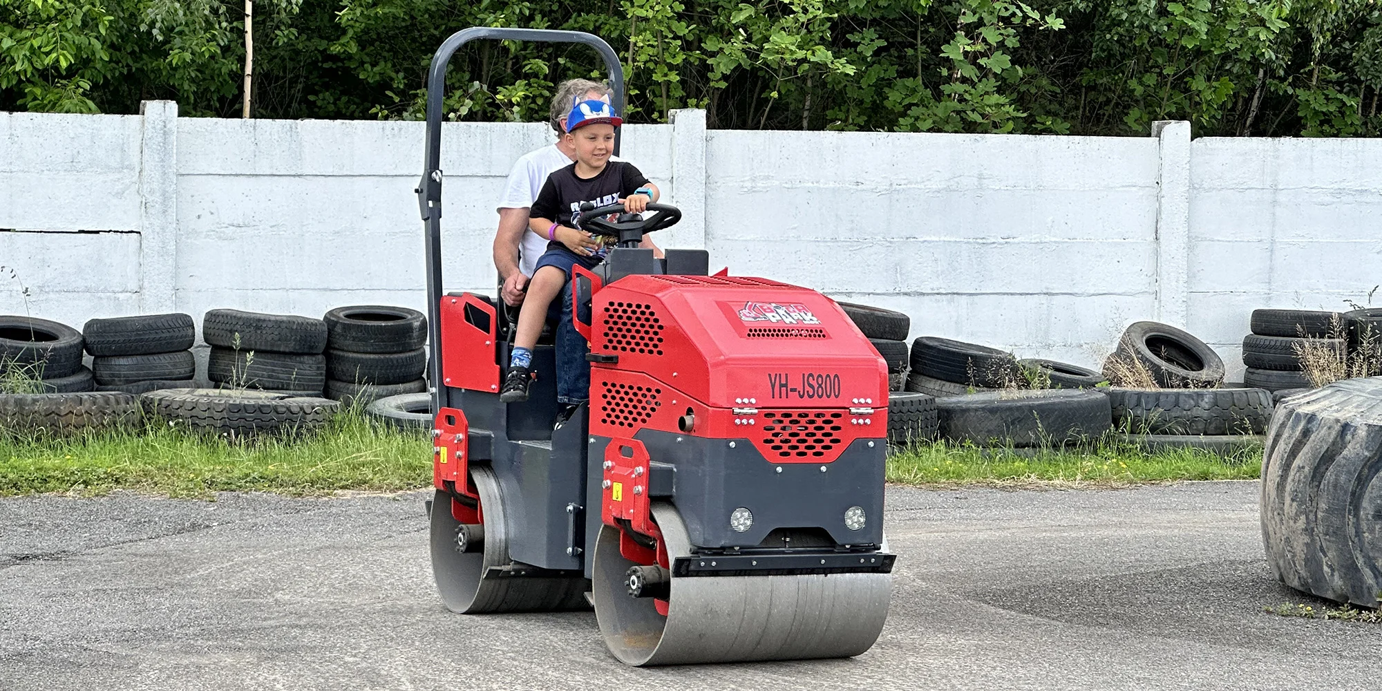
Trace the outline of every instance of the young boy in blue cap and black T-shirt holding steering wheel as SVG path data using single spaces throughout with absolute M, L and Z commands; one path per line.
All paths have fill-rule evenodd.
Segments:
M 643 213 L 658 199 L 658 187 L 632 163 L 609 160 L 614 153 L 614 129 L 623 123 L 607 101 L 580 101 L 567 116 L 567 134 L 576 151 L 576 162 L 558 169 L 528 209 L 528 228 L 549 240 L 547 252 L 538 258 L 528 296 L 518 312 L 509 375 L 499 391 L 506 404 L 528 399 L 532 383 L 532 348 L 542 334 L 547 307 L 571 281 L 571 267 L 594 268 L 604 261 L 604 243 L 579 228 L 580 205 L 596 207 L 622 203 L 627 213 Z M 643 246 L 654 252 L 648 238 Z M 582 395 L 580 398 L 585 398 Z

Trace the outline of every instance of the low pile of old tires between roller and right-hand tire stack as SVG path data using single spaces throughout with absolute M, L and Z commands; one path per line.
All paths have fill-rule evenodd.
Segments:
M 1269 391 L 1220 388 L 1219 355 L 1164 323 L 1130 325 L 1096 372 L 934 336 L 918 337 L 908 348 L 897 339 L 900 325 L 909 328 L 907 315 L 840 307 L 873 341 L 890 375 L 904 373 L 905 391 L 890 394 L 889 404 L 894 444 L 938 435 L 980 446 L 1060 446 L 1122 430 L 1126 441 L 1153 449 L 1231 451 L 1255 441 L 1271 420 Z M 889 339 L 879 340 L 883 336 Z M 1107 386 L 1126 369 L 1140 372 L 1151 388 Z

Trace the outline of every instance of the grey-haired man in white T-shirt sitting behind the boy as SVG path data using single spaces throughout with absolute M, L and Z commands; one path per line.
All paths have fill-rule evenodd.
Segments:
M 504 304 L 511 307 L 522 304 L 524 287 L 532 276 L 533 265 L 547 249 L 545 238 L 528 232 L 528 207 L 538 198 L 547 176 L 575 160 L 575 148 L 561 140 L 567 131 L 567 113 L 576 101 L 600 100 L 607 94 L 609 94 L 608 87 L 589 79 L 568 79 L 557 84 L 549 109 L 549 122 L 557 133 L 557 141 L 525 153 L 509 173 L 509 182 L 499 200 L 499 231 L 495 232 L 493 250 L 495 268 L 503 281 L 499 294 Z

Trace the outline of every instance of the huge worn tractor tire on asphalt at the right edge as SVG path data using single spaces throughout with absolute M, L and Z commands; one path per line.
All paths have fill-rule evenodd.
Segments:
M 1285 585 L 1378 605 L 1382 591 L 1382 380 L 1281 402 L 1262 459 L 1262 542 Z

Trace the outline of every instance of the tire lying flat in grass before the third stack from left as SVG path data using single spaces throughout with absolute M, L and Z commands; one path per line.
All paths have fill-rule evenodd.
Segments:
M 140 395 L 148 415 L 189 430 L 250 435 L 311 430 L 326 424 L 336 401 L 274 391 L 164 388 Z

